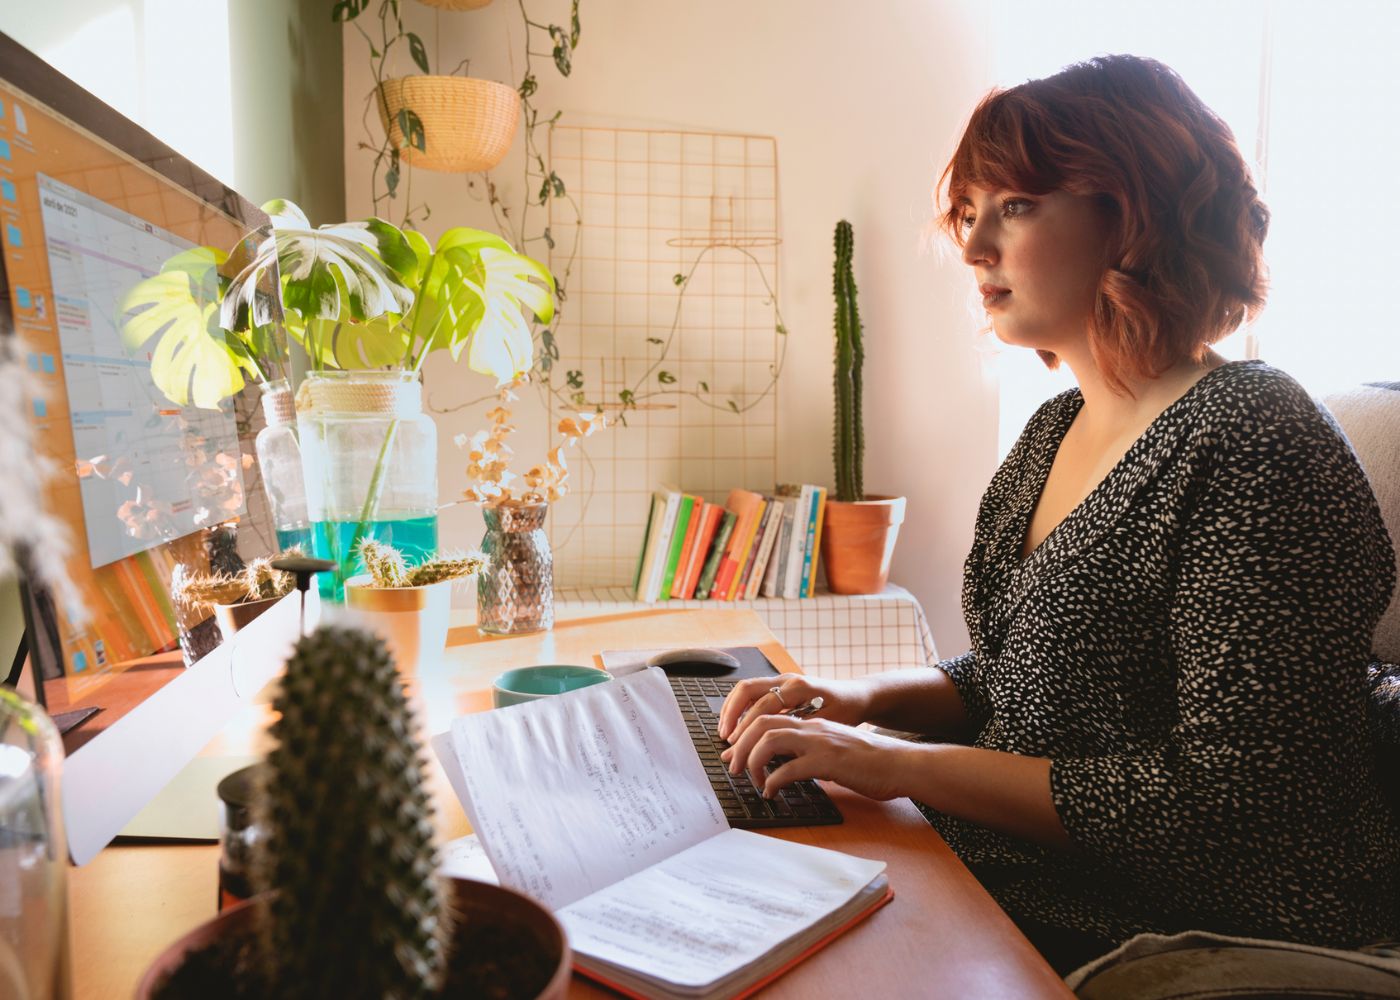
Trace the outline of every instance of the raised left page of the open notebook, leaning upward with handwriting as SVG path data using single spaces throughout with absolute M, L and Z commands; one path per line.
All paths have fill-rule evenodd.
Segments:
M 501 885 L 553 909 L 729 828 L 655 668 L 463 716 L 452 749 Z

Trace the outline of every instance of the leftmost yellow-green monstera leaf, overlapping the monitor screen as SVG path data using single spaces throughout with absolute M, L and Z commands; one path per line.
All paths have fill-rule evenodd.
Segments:
M 228 259 L 214 246 L 196 246 L 167 261 L 158 275 L 137 283 L 122 298 L 119 326 L 127 352 L 160 338 L 151 352 L 151 378 L 179 406 L 218 409 L 244 388 L 244 373 L 256 375 L 249 345 L 220 326 L 218 303 Z

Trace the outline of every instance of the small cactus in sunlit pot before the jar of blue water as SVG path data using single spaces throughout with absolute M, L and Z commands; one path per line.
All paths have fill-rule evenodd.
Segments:
M 447 648 L 452 584 L 482 569 L 476 553 L 437 556 L 409 566 L 403 553 L 372 538 L 360 542 L 367 573 L 346 580 L 346 605 L 389 644 L 402 669 L 416 671 Z

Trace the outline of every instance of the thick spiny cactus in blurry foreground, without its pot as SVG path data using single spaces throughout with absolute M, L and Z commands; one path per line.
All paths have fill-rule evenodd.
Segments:
M 274 706 L 259 889 L 276 889 L 263 965 L 280 1000 L 426 997 L 449 917 L 412 711 L 377 637 L 297 643 Z

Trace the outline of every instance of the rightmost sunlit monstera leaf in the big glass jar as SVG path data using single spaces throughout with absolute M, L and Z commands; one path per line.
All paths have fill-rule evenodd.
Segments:
M 554 317 L 554 277 L 517 254 L 500 237 L 466 227 L 448 230 L 423 269 L 414 314 L 409 318 L 424 350 L 447 349 L 452 360 L 466 350 L 473 371 L 498 384 L 533 364 L 535 343 L 522 308 L 540 322 Z

